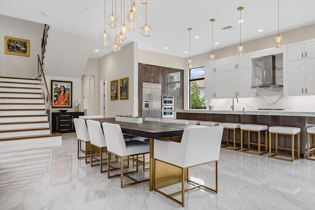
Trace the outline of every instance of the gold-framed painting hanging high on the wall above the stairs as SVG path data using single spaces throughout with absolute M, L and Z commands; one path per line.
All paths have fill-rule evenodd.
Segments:
M 4 36 L 4 53 L 30 57 L 30 40 Z

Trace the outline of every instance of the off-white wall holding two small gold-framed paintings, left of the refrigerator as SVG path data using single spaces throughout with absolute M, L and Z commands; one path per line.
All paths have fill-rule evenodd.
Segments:
M 98 79 L 105 78 L 108 81 L 107 95 L 110 95 L 110 81 L 129 77 L 129 99 L 108 100 L 108 117 L 116 115 L 138 115 L 138 43 L 132 42 L 119 52 L 112 52 L 98 59 Z M 99 89 L 99 84 L 98 84 Z M 99 103 L 99 97 L 97 97 Z

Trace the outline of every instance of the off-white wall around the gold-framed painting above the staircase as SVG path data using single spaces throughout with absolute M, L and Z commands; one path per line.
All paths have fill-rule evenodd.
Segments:
M 37 54 L 41 56 L 44 24 L 0 15 L 0 75 L 34 78 L 37 76 Z M 30 57 L 4 54 L 4 36 L 30 40 Z

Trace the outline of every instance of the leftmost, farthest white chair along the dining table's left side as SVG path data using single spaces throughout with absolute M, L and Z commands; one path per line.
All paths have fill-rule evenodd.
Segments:
M 87 143 L 90 142 L 90 137 L 87 125 L 83 119 L 74 118 L 73 122 L 78 139 L 78 159 L 85 157 L 85 163 L 88 163 L 87 156 L 90 156 L 90 154 L 88 155 L 90 151 L 87 148 Z M 81 149 L 81 143 L 84 143 L 84 150 Z M 80 151 L 84 152 L 85 155 L 80 157 Z

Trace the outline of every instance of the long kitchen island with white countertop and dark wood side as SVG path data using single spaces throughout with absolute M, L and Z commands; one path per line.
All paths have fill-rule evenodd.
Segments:
M 315 126 L 315 112 L 292 111 L 292 110 L 174 110 L 177 119 L 239 122 L 243 124 L 265 124 L 270 126 L 291 126 L 300 127 L 300 157 L 306 158 L 306 128 L 311 124 Z M 254 139 L 255 137 L 254 133 Z M 237 139 L 240 139 L 240 132 L 237 132 Z M 247 144 L 244 136 L 244 144 Z M 223 135 L 222 141 L 226 141 Z M 273 142 L 274 143 L 274 142 Z M 279 135 L 280 147 L 291 147 L 289 137 Z M 272 149 L 275 148 L 273 144 Z M 285 151 L 284 151 L 285 152 Z

